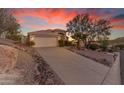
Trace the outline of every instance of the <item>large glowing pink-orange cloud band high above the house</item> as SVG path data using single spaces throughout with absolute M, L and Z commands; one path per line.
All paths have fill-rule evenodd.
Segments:
M 33 16 L 44 18 L 51 24 L 63 24 L 77 15 L 76 11 L 67 12 L 65 9 L 16 9 L 14 16 Z

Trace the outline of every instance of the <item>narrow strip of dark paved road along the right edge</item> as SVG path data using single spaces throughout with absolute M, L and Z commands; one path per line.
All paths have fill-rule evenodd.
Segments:
M 121 83 L 124 85 L 124 50 L 120 51 Z

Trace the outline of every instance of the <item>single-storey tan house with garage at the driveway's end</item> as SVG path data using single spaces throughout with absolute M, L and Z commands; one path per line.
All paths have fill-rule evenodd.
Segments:
M 58 40 L 65 34 L 61 29 L 48 29 L 28 33 L 30 41 L 34 41 L 34 47 L 56 47 Z

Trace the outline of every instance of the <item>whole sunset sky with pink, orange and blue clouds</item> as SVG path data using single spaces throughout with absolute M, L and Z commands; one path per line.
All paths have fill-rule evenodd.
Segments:
M 104 8 L 28 8 L 10 9 L 21 24 L 24 34 L 42 29 L 65 29 L 66 23 L 77 14 L 89 13 L 92 18 L 107 18 L 113 25 L 111 39 L 124 36 L 124 9 Z

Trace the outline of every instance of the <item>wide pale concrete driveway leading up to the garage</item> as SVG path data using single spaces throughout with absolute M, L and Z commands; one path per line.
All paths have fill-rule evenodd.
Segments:
M 103 84 L 109 67 L 64 48 L 36 48 L 65 84 Z

